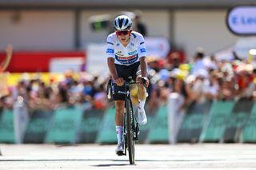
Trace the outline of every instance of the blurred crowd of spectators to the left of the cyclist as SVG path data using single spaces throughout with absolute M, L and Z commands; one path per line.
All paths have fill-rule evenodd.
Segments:
M 46 84 L 40 76 L 30 79 L 27 73 L 23 73 L 18 84 L 10 86 L 9 93 L 1 97 L 1 105 L 12 109 L 15 101 L 22 101 L 31 111 L 53 110 L 62 105 L 106 109 L 106 79 L 88 73 L 74 73 L 71 69 L 66 70 L 63 77 L 61 81 L 49 77 L 50 83 Z

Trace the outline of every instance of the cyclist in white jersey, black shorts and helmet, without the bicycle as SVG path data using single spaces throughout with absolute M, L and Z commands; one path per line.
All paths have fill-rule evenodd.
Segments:
M 107 37 L 106 56 L 112 79 L 114 80 L 113 98 L 115 101 L 115 125 L 118 137 L 118 146 L 115 152 L 123 153 L 123 112 L 125 107 L 126 81 L 138 82 L 138 112 L 137 121 L 140 125 L 146 125 L 146 113 L 144 105 L 146 101 L 146 89 L 142 81 L 147 78 L 146 46 L 142 34 L 132 31 L 132 20 L 126 15 L 120 15 L 114 19 L 115 32 Z

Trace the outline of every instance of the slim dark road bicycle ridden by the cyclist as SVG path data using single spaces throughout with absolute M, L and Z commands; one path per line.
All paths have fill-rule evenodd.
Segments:
M 125 109 L 124 109 L 124 128 L 123 128 L 123 144 L 124 144 L 124 152 L 122 155 L 126 156 L 126 153 L 128 151 L 129 153 L 129 161 L 130 164 L 135 163 L 135 141 L 138 141 L 138 133 L 139 133 L 139 127 L 138 122 L 136 118 L 134 117 L 134 109 L 131 102 L 130 97 L 130 85 L 132 84 L 138 84 L 138 82 L 125 82 L 125 92 L 126 92 L 126 98 L 125 98 Z M 108 83 L 107 88 L 107 94 L 108 98 L 110 99 L 113 95 L 112 93 L 112 87 L 114 85 L 114 82 L 112 80 Z M 146 81 L 143 81 L 143 85 L 146 86 Z

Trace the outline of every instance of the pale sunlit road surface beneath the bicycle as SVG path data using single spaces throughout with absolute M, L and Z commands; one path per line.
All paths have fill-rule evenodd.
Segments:
M 0 144 L 0 169 L 256 169 L 256 144 L 137 144 L 136 162 L 115 145 Z

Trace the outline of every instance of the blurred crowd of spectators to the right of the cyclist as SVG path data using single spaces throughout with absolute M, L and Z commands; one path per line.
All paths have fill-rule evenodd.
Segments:
M 256 68 L 250 60 L 242 60 L 235 53 L 217 59 L 214 55 L 206 56 L 202 48 L 196 49 L 191 61 L 181 63 L 180 59 L 179 53 L 171 53 L 166 64 L 149 62 L 153 82 L 150 106 L 166 102 L 172 92 L 186 99 L 183 109 L 206 100 L 256 99 Z

